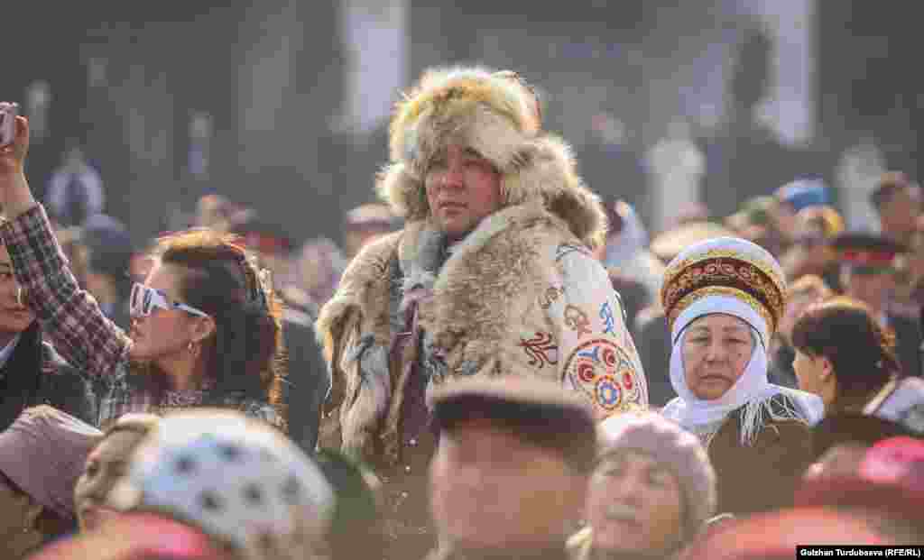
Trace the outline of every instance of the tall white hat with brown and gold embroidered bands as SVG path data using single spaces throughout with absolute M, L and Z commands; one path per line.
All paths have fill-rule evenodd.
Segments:
M 727 313 L 746 321 L 764 347 L 783 316 L 786 283 L 776 259 L 738 237 L 702 241 L 667 265 L 661 302 L 671 339 L 693 320 Z

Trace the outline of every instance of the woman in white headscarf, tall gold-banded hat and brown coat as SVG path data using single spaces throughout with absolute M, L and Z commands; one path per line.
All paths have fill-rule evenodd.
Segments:
M 707 445 L 720 512 L 786 505 L 811 459 L 808 432 L 821 420 L 821 399 L 767 380 L 784 295 L 779 263 L 735 237 L 684 250 L 664 274 L 677 397 L 663 415 Z

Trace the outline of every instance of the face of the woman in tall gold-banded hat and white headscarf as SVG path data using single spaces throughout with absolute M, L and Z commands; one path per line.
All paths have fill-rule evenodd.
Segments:
M 715 313 L 687 327 L 682 355 L 687 387 L 697 398 L 721 398 L 744 375 L 754 338 L 748 323 Z

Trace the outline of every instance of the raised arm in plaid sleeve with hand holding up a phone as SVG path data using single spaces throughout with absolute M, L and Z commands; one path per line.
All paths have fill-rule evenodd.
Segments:
M 128 358 L 131 340 L 71 274 L 44 208 L 32 198 L 24 172 L 28 150 L 29 124 L 19 116 L 16 140 L 0 148 L 0 204 L 6 214 L 0 236 L 17 282 L 43 331 L 72 366 L 93 376 L 113 374 Z

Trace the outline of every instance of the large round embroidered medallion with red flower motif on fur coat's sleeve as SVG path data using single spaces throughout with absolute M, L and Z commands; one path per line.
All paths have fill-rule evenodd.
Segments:
M 596 338 L 575 348 L 565 361 L 564 375 L 608 412 L 640 404 L 635 366 L 626 351 L 612 340 Z

